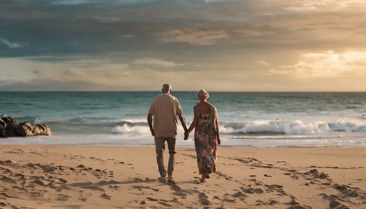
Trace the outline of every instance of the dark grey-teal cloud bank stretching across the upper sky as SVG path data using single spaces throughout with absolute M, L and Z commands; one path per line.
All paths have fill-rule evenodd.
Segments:
M 0 57 L 323 47 L 299 34 L 319 30 L 323 17 L 345 14 L 309 15 L 301 6 L 277 0 L 2 0 L 0 37 L 8 44 L 0 43 Z M 308 16 L 318 22 L 306 22 Z M 324 27 L 357 33 L 349 29 L 352 21 Z M 324 48 L 331 45 L 326 42 Z M 9 47 L 13 43 L 24 45 Z

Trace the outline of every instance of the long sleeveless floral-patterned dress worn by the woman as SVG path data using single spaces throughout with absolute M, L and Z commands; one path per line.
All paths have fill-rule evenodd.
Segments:
M 199 174 L 210 174 L 216 171 L 217 158 L 217 110 L 201 113 L 198 104 L 194 106 L 198 112 L 198 125 L 194 129 L 194 146 L 197 154 Z

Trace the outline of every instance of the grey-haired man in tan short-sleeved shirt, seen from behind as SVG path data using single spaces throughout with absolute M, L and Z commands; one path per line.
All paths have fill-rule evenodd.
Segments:
M 175 165 L 176 139 L 178 133 L 178 119 L 183 126 L 184 132 L 187 130 L 183 111 L 176 97 L 171 95 L 172 86 L 168 83 L 163 85 L 162 94 L 155 97 L 151 103 L 147 121 L 149 123 L 151 135 L 155 137 L 156 160 L 158 162 L 160 181 L 165 182 L 167 171 L 164 168 L 163 153 L 165 150 L 165 141 L 168 143 L 169 164 L 168 164 L 168 180 L 173 181 L 173 171 Z M 154 127 L 153 127 L 154 116 Z

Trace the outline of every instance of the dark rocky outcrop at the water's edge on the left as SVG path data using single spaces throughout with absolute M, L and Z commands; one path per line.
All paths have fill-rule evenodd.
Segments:
M 44 124 L 20 123 L 15 118 L 4 117 L 0 119 L 0 137 L 33 137 L 51 136 L 51 129 Z

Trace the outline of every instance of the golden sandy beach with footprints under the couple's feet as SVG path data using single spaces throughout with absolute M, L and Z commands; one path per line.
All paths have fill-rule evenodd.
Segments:
M 3 209 L 366 209 L 366 148 L 219 147 L 200 184 L 181 147 L 176 185 L 156 181 L 154 147 L 2 145 L 0 156 Z

